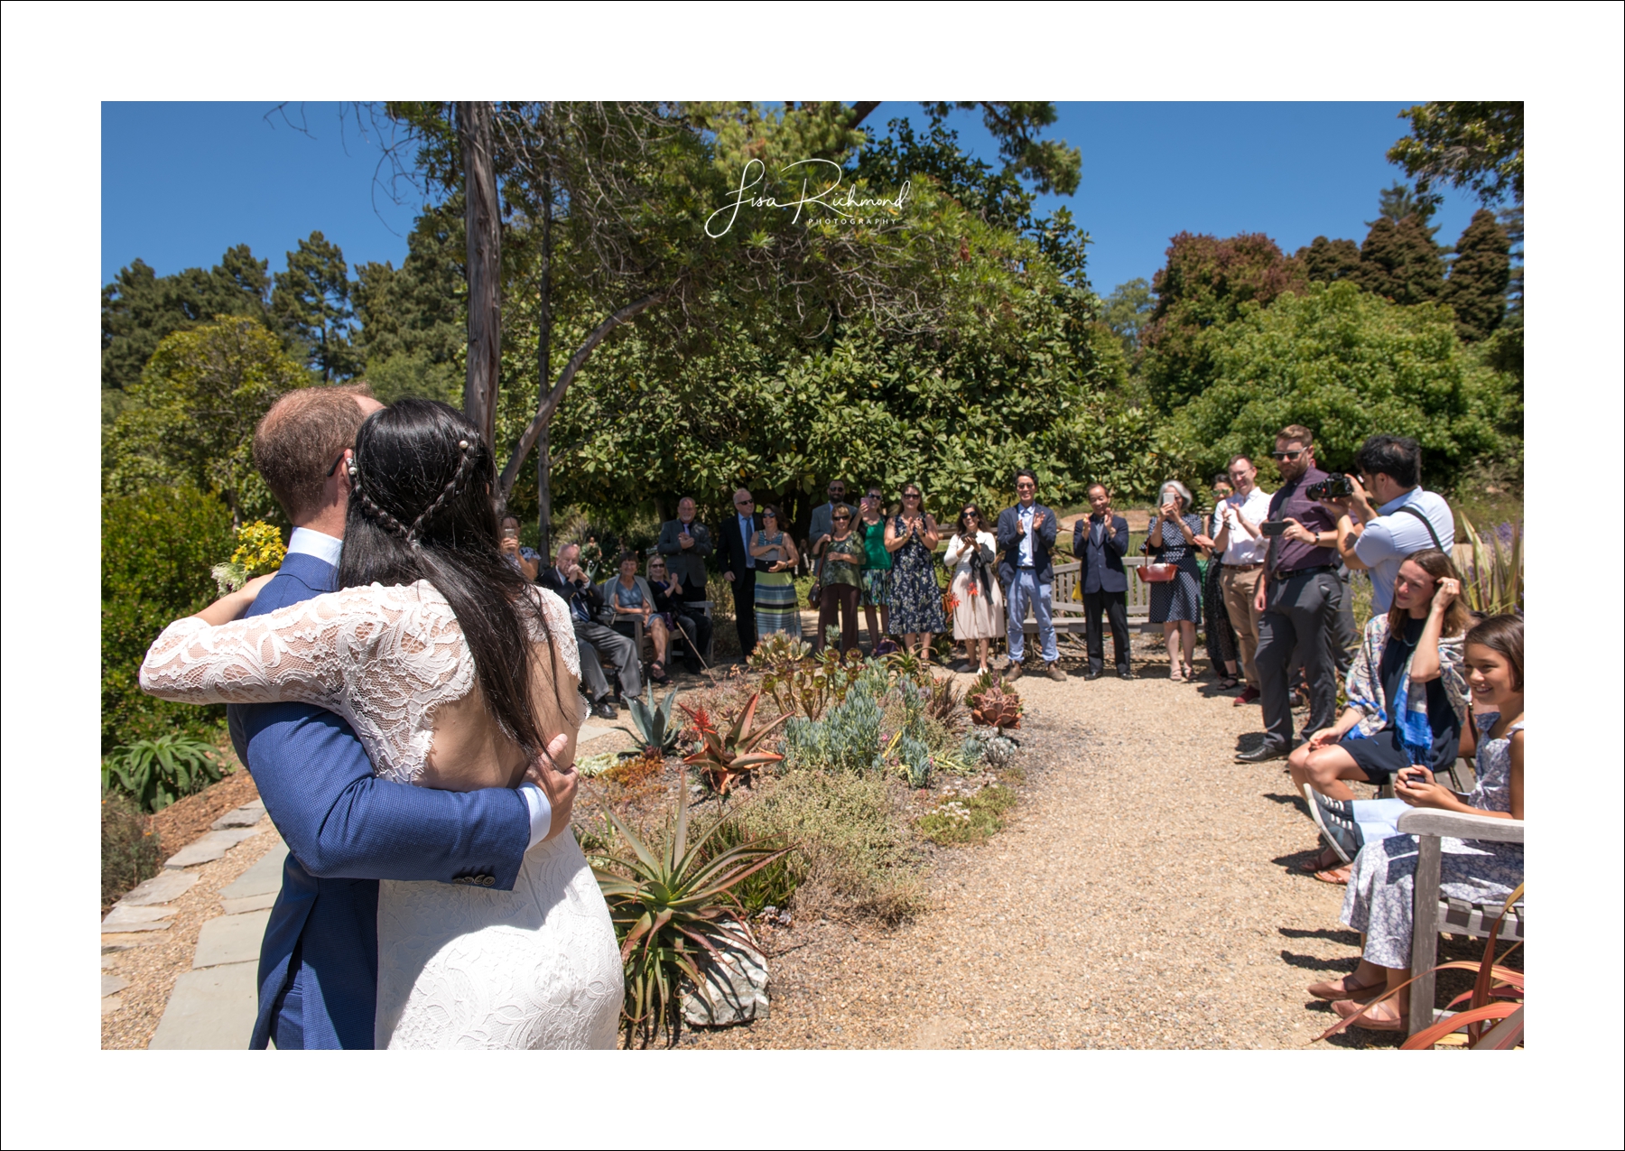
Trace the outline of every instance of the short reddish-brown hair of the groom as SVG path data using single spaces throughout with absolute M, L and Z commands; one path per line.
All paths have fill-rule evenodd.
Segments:
M 283 395 L 255 426 L 254 467 L 289 520 L 322 506 L 333 460 L 356 445 L 366 419 L 358 395 L 370 395 L 366 384 L 302 387 Z

